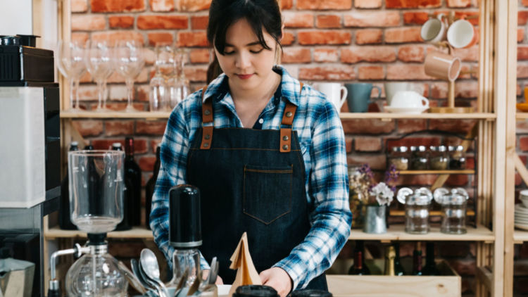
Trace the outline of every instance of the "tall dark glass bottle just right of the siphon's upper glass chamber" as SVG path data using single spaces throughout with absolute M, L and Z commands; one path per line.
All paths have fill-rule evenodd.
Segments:
M 141 225 L 142 210 L 142 170 L 134 161 L 134 139 L 125 139 L 125 179 L 130 180 L 131 189 L 128 191 L 130 204 L 128 213 L 132 226 Z

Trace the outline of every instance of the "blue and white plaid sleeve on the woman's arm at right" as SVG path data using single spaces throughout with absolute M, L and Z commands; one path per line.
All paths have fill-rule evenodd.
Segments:
M 289 274 L 294 282 L 292 289 L 305 288 L 311 279 L 325 272 L 350 235 L 345 138 L 337 110 L 331 104 L 326 101 L 321 106 L 313 126 L 308 192 L 314 203 L 312 227 L 305 240 L 274 265 Z

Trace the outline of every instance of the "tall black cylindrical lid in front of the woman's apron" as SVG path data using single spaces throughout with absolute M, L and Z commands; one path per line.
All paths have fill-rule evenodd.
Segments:
M 169 244 L 180 249 L 201 246 L 200 190 L 190 184 L 169 191 Z

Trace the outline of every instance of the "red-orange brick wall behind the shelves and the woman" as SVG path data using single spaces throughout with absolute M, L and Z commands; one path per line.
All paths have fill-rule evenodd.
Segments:
M 420 39 L 420 26 L 428 13 L 455 11 L 456 15 L 478 14 L 477 0 L 282 0 L 286 26 L 283 39 L 283 64 L 299 80 L 307 82 L 335 81 L 372 82 L 382 87 L 386 81 L 408 81 L 423 89 L 432 106 L 444 104 L 447 83 L 425 75 L 424 60 L 434 46 Z M 528 2 L 528 1 L 523 1 Z M 205 83 L 209 51 L 206 41 L 207 9 L 210 0 L 72 0 L 72 38 L 134 38 L 148 48 L 145 70 L 135 85 L 134 106 L 148 108 L 148 82 L 154 59 L 153 46 L 170 42 L 189 49 L 185 73 L 191 87 Z M 520 25 L 527 23 L 528 11 L 520 12 Z M 471 20 L 477 26 L 478 19 Z M 523 23 L 524 22 L 524 23 Z M 524 41 L 520 27 L 520 42 Z M 520 60 L 528 59 L 520 45 Z M 478 44 L 455 51 L 463 61 L 463 70 L 476 70 Z M 528 79 L 527 65 L 520 65 L 520 77 Z M 520 82 L 521 85 L 522 82 Z M 112 75 L 109 85 L 109 107 L 122 109 L 126 89 L 122 77 Z M 478 81 L 465 73 L 457 80 L 455 93 L 458 106 L 476 106 Z M 519 91 L 520 94 L 520 91 Z M 86 75 L 80 89 L 82 105 L 91 109 L 96 104 L 96 87 Z M 378 96 L 374 89 L 372 97 Z M 377 104 L 384 103 L 384 92 Z M 347 110 L 345 104 L 344 111 Z M 386 139 L 400 137 L 423 129 L 447 129 L 461 134 L 474 125 L 470 120 L 344 120 L 348 163 L 370 163 L 382 174 L 386 167 Z M 134 135 L 137 162 L 144 171 L 144 182 L 153 167 L 156 143 L 165 129 L 165 120 L 76 120 L 75 126 L 96 148 L 108 148 L 111 142 Z M 528 134 L 528 127 L 524 128 Z M 432 134 L 417 134 L 405 144 L 455 143 L 458 140 Z M 524 141 L 528 143 L 528 135 Z M 528 144 L 525 150 L 528 151 Z M 472 156 L 472 153 L 470 153 Z M 471 159 L 473 160 L 473 159 Z M 474 163 L 474 162 L 470 162 Z M 448 185 L 472 189 L 474 177 L 454 176 Z M 402 177 L 402 184 L 430 185 L 434 176 Z M 474 246 L 467 244 L 444 257 L 463 274 L 464 292 L 472 294 Z

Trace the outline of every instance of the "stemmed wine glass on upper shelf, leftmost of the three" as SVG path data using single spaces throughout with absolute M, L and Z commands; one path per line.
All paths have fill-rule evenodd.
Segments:
M 84 47 L 80 42 L 64 42 L 63 40 L 59 40 L 57 49 L 57 68 L 68 79 L 70 84 L 69 111 L 80 112 L 82 110 L 79 106 L 79 81 L 86 72 Z M 74 94 L 75 106 L 73 105 Z

